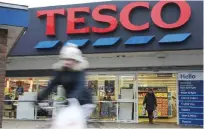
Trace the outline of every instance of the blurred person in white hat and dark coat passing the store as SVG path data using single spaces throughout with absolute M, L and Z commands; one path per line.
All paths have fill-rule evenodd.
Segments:
M 80 49 L 75 44 L 69 43 L 62 47 L 59 55 L 60 60 L 53 65 L 55 75 L 50 80 L 48 87 L 41 91 L 37 99 L 45 99 L 55 87 L 61 85 L 65 90 L 65 97 L 75 98 L 86 110 L 86 118 L 94 110 L 92 95 L 85 87 L 85 69 L 89 67 L 88 61 L 83 57 Z

